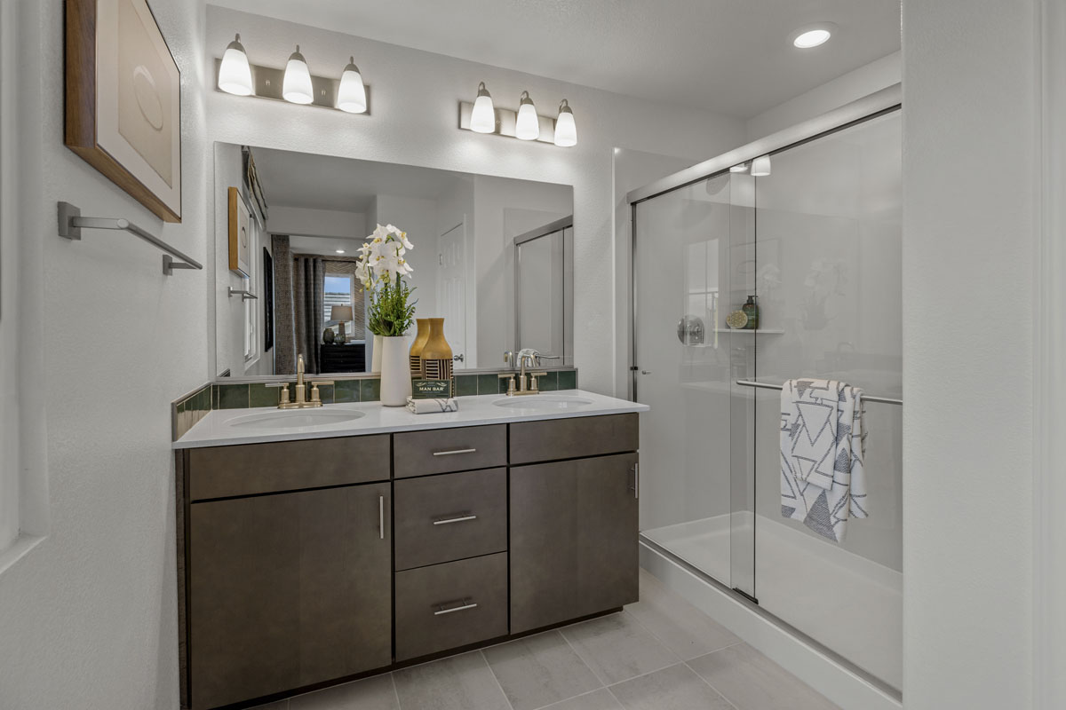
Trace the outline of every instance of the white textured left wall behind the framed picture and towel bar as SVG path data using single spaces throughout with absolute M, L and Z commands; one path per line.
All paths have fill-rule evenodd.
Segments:
M 208 376 L 211 281 L 164 277 L 160 252 L 127 234 L 56 236 L 55 202 L 206 261 L 204 7 L 151 3 L 182 72 L 184 221 L 164 226 L 63 146 L 63 3 L 16 4 L 23 462 L 47 479 L 51 525 L 0 574 L 0 707 L 177 708 L 168 403 Z

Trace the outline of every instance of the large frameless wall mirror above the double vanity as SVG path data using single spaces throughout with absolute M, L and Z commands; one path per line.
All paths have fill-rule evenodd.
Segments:
M 292 375 L 301 354 L 308 373 L 372 371 L 355 264 L 378 224 L 414 243 L 416 315 L 445 318 L 457 371 L 499 368 L 520 347 L 572 365 L 569 185 L 222 143 L 214 152 L 220 377 Z

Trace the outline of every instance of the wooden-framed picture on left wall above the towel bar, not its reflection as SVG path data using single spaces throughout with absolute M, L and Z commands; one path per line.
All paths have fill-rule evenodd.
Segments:
M 181 72 L 146 0 L 66 0 L 64 144 L 181 221 Z

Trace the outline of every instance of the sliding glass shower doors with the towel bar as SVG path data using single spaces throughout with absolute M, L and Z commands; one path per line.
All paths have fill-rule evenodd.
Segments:
M 642 539 L 899 689 L 899 108 L 755 167 L 631 199 L 633 396 L 655 412 L 641 431 Z M 773 387 L 803 377 L 877 398 L 865 407 L 869 517 L 840 543 L 781 514 Z

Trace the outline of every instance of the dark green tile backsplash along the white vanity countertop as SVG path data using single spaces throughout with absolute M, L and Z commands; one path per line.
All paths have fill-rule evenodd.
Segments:
M 510 370 L 500 370 L 510 371 Z M 308 380 L 310 381 L 310 380 Z M 289 392 L 295 390 L 295 381 L 289 382 Z M 543 392 L 576 390 L 577 369 L 549 371 L 540 378 Z M 455 392 L 458 397 L 500 394 L 507 391 L 507 381 L 499 378 L 499 373 L 456 375 Z M 203 419 L 213 409 L 247 409 L 249 407 L 275 407 L 280 396 L 280 387 L 269 387 L 259 382 L 235 382 L 206 384 L 196 392 L 171 402 L 172 433 L 180 439 L 193 425 Z M 319 387 L 325 404 L 341 402 L 370 402 L 381 399 L 382 383 L 377 378 L 356 380 L 335 380 L 334 384 Z M 292 394 L 290 394 L 294 398 Z

